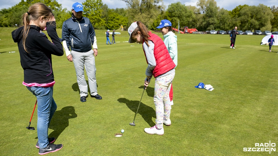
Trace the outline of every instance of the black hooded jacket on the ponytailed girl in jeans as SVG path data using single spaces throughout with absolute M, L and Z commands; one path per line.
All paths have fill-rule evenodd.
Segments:
M 23 48 L 22 33 L 23 27 L 12 31 L 12 39 L 17 42 L 20 63 L 24 70 L 25 83 L 50 83 L 54 81 L 51 55 L 62 56 L 63 46 L 56 32 L 56 23 L 52 21 L 46 23 L 46 31 L 51 38 L 50 42 L 44 34 L 40 33 L 41 28 L 30 25 L 25 47 Z

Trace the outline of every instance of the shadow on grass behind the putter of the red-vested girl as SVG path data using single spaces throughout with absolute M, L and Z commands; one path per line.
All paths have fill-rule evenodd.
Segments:
M 118 101 L 120 103 L 125 103 L 127 107 L 134 112 L 135 115 L 140 101 L 132 101 L 125 98 L 119 98 Z M 147 106 L 141 102 L 138 109 L 138 114 L 140 114 L 151 127 L 155 125 L 152 118 L 156 118 L 156 111 L 152 107 Z M 131 119 L 131 122 L 133 121 L 133 119 Z

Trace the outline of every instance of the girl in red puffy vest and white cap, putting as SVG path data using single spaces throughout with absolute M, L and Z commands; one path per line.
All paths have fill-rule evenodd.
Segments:
M 133 22 L 128 28 L 129 43 L 141 43 L 147 61 L 145 87 L 149 85 L 151 77 L 155 77 L 153 101 L 156 106 L 156 125 L 145 128 L 149 134 L 163 135 L 163 124 L 170 126 L 170 98 L 171 83 L 175 77 L 175 63 L 171 59 L 163 40 L 152 34 L 140 21 Z

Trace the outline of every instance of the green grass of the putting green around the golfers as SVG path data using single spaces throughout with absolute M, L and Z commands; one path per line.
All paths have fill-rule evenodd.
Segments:
M 0 155 L 38 155 L 36 130 L 25 128 L 36 98 L 22 85 L 14 29 L 0 28 Z M 61 36 L 61 29 L 57 32 Z M 230 49 L 228 35 L 177 34 L 172 125 L 164 126 L 159 136 L 144 132 L 155 125 L 154 79 L 143 95 L 136 126 L 129 125 L 143 92 L 147 63 L 142 44 L 124 42 L 127 31 L 116 32 L 121 32 L 115 36 L 117 43 L 106 45 L 105 30 L 96 30 L 102 100 L 88 97 L 81 103 L 73 63 L 65 54 L 52 57 L 58 108 L 49 137 L 64 147 L 48 155 L 278 155 L 278 47 L 268 52 L 268 46 L 260 45 L 264 36 L 238 35 L 236 49 Z M 195 88 L 200 82 L 215 89 Z M 31 127 L 37 129 L 36 124 L 35 112 Z M 115 137 L 121 129 L 123 136 Z M 276 143 L 277 151 L 243 151 L 269 141 Z

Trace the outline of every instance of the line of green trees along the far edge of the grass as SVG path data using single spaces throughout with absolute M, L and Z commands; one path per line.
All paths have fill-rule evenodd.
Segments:
M 95 29 L 118 29 L 120 25 L 128 27 L 134 21 L 142 21 L 151 30 L 162 19 L 168 19 L 172 26 L 197 28 L 205 30 L 230 30 L 237 26 L 239 30 L 278 30 L 278 7 L 271 8 L 259 4 L 238 5 L 228 11 L 217 6 L 215 0 L 198 0 L 197 7 L 186 6 L 180 2 L 172 3 L 165 9 L 162 0 L 121 0 L 126 8 L 110 9 L 101 0 L 83 2 L 83 16 L 88 17 Z M 21 25 L 21 15 L 28 11 L 30 5 L 42 2 L 54 12 L 57 27 L 71 17 L 71 10 L 62 9 L 56 0 L 21 0 L 11 8 L 0 10 L 0 27 L 16 27 Z

